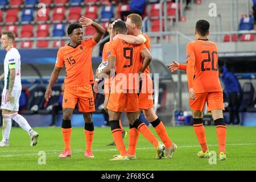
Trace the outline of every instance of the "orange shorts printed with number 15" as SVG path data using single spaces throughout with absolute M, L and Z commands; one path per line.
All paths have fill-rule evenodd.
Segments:
M 95 111 L 92 85 L 65 86 L 63 95 L 63 108 L 75 109 L 79 103 L 79 111 L 90 113 Z

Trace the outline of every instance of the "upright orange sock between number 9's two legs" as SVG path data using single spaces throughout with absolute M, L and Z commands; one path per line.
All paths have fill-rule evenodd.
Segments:
M 130 125 L 129 148 L 127 150 L 127 153 L 129 155 L 135 155 L 138 138 L 139 138 L 139 131 L 135 127 Z

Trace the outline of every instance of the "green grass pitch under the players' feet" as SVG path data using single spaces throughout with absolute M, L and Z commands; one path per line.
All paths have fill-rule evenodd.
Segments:
M 128 128 L 125 128 L 128 130 Z M 151 131 L 156 135 L 153 127 Z M 59 159 L 57 156 L 64 148 L 59 127 L 35 128 L 39 133 L 36 146 L 30 146 L 28 134 L 20 128 L 11 130 L 10 146 L 0 148 L 0 170 L 256 170 L 256 127 L 228 126 L 226 155 L 228 160 L 214 158 L 199 159 L 200 150 L 192 126 L 167 127 L 171 140 L 177 144 L 172 159 L 155 159 L 155 149 L 146 139 L 140 137 L 137 144 L 137 159 L 129 161 L 109 161 L 118 154 L 115 146 L 106 146 L 112 142 L 109 127 L 96 127 L 94 130 L 93 154 L 95 158 L 84 158 L 85 136 L 82 127 L 73 127 L 71 135 L 72 156 Z M 210 151 L 218 152 L 216 129 L 205 127 Z M 128 135 L 125 138 L 128 145 Z M 46 164 L 39 164 L 39 151 L 46 152 Z M 42 159 L 42 158 L 40 158 Z M 217 158 L 218 159 L 218 158 Z M 40 161 L 40 160 L 39 160 Z

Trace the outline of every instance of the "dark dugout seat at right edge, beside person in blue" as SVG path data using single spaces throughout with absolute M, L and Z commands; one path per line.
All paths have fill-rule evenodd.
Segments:
M 246 111 L 247 108 L 250 107 L 251 104 L 253 104 L 254 94 L 255 93 L 254 93 L 253 84 L 251 84 L 251 82 L 245 82 L 242 88 L 242 100 L 239 107 L 239 110 L 241 112 Z

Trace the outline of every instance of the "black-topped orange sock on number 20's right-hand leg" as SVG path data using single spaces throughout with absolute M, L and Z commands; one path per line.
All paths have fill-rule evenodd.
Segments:
M 214 123 L 216 125 L 216 133 L 218 138 L 218 154 L 220 154 L 220 152 L 224 152 L 224 154 L 226 154 L 226 124 L 224 122 L 224 118 L 216 119 Z

